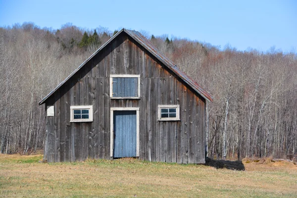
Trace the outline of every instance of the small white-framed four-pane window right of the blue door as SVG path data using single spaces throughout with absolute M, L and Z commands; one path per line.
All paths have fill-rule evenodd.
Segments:
M 158 105 L 158 120 L 180 120 L 180 106 L 179 105 Z

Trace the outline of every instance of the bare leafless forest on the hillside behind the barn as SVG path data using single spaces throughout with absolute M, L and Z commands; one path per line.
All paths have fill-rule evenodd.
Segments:
M 206 109 L 209 157 L 297 154 L 296 53 L 220 49 L 141 33 L 214 97 Z M 0 28 L 0 153 L 43 148 L 45 106 L 38 102 L 113 34 L 72 24 Z

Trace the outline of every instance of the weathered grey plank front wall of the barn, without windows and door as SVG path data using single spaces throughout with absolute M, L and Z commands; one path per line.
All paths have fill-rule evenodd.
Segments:
M 110 99 L 110 74 L 140 74 L 140 99 Z M 46 105 L 49 162 L 110 157 L 110 107 L 140 108 L 140 159 L 205 163 L 205 99 L 125 33 L 61 86 Z M 179 104 L 180 121 L 157 121 L 158 104 Z M 93 105 L 94 121 L 70 123 L 70 105 Z

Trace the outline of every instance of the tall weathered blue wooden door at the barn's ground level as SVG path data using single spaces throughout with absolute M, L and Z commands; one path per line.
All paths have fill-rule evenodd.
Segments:
M 113 111 L 113 157 L 136 157 L 136 111 Z

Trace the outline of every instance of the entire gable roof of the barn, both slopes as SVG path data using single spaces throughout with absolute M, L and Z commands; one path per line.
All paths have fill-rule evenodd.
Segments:
M 167 66 L 173 73 L 179 76 L 185 83 L 192 87 L 199 95 L 208 101 L 212 101 L 213 98 L 204 89 L 202 89 L 196 81 L 189 77 L 185 72 L 176 66 L 174 62 L 164 56 L 158 49 L 156 49 L 142 34 L 135 30 L 121 29 L 113 37 L 111 37 L 104 45 L 97 49 L 87 60 L 85 60 L 78 68 L 76 68 L 65 80 L 63 80 L 54 90 L 52 90 L 44 99 L 39 102 L 39 105 L 43 104 L 57 89 L 59 89 L 66 81 L 68 81 L 76 72 L 78 72 L 90 59 L 92 59 L 101 49 L 107 46 L 112 40 L 114 40 L 121 32 L 125 32 L 132 37 L 142 47 L 147 49 L 153 56 Z

